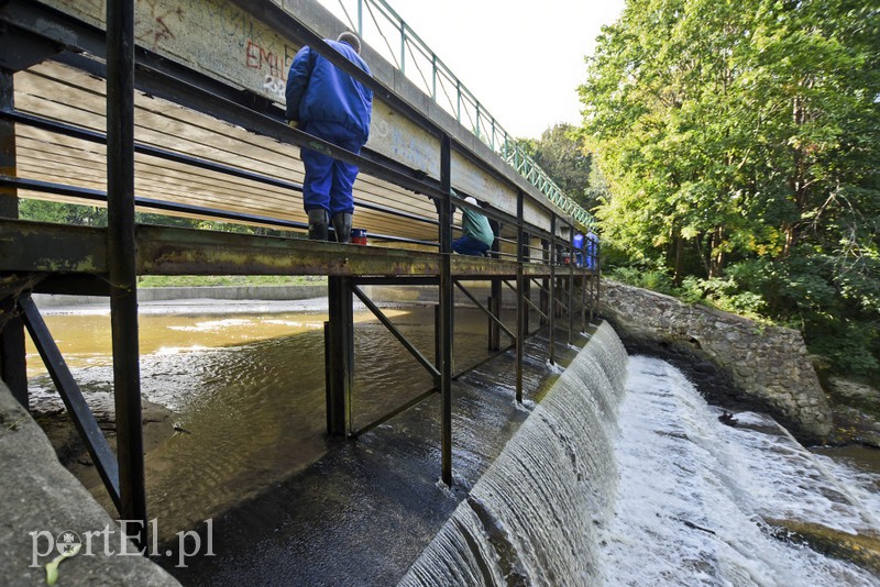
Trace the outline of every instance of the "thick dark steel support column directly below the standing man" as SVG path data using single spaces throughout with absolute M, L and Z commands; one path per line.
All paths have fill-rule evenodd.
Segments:
M 351 279 L 328 279 L 330 320 L 324 323 L 327 434 L 346 436 L 352 427 L 354 388 L 354 310 Z

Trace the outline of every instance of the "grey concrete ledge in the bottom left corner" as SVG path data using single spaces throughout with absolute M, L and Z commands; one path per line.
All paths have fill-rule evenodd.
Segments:
M 121 540 L 118 522 L 58 463 L 43 430 L 2 384 L 0 464 L 0 585 L 44 585 L 64 532 L 76 532 L 82 549 L 61 563 L 57 585 L 180 585 Z M 85 533 L 106 528 L 107 545 L 98 535 L 87 550 Z M 133 555 L 117 554 L 123 547 Z

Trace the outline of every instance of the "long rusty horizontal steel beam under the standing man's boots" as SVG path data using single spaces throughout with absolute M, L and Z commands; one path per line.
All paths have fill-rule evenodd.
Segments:
M 103 228 L 0 219 L 0 258 L 4 270 L 103 276 L 106 234 Z M 139 275 L 337 275 L 363 284 L 436 285 L 442 259 L 431 252 L 174 226 L 139 224 L 135 235 Z M 455 255 L 451 270 L 459 279 L 513 278 L 517 266 Z M 527 276 L 547 270 L 524 266 Z

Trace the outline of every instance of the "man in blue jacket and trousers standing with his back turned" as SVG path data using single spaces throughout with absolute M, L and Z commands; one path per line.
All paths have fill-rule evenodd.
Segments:
M 370 74 L 356 35 L 344 32 L 337 41 L 324 41 Z M 361 152 L 370 135 L 372 90 L 306 46 L 290 64 L 286 93 L 292 126 L 354 154 Z M 358 166 L 306 147 L 300 149 L 300 157 L 306 166 L 302 199 L 309 239 L 327 241 L 328 224 L 332 222 L 337 242 L 348 243 L 354 212 L 351 189 Z

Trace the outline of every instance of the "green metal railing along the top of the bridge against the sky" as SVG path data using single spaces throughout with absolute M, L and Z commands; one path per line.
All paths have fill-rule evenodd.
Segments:
M 385 0 L 319 0 L 388 63 L 575 222 L 593 229 L 590 212 L 566 196 Z

